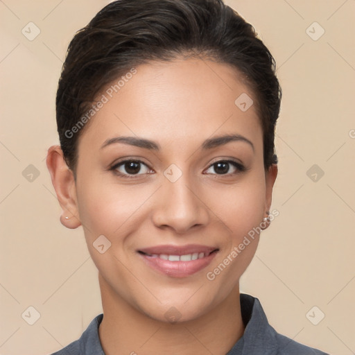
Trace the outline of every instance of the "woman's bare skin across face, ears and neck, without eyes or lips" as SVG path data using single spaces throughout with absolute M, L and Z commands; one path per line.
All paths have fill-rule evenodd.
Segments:
M 227 64 L 200 58 L 144 64 L 82 132 L 76 180 L 60 147 L 49 148 L 46 162 L 63 209 L 61 222 L 83 225 L 98 268 L 105 354 L 222 355 L 243 335 L 239 279 L 259 236 L 213 281 L 206 277 L 267 216 L 277 176 L 276 165 L 263 165 L 255 105 L 242 112 L 234 104 L 242 93 L 256 101 Z M 231 134 L 253 148 L 241 140 L 200 147 L 205 139 Z M 150 139 L 160 149 L 123 143 L 101 148 L 119 136 Z M 125 166 L 110 171 L 125 159 L 146 166 L 132 179 L 119 175 L 128 175 Z M 212 164 L 221 160 L 246 170 L 230 164 L 227 174 L 218 173 Z M 182 172 L 176 182 L 164 176 L 171 164 Z M 100 235 L 112 243 L 103 254 L 92 244 Z M 162 244 L 209 245 L 218 252 L 207 268 L 171 277 L 148 267 L 137 252 Z M 180 314 L 173 324 L 165 317 L 171 307 Z

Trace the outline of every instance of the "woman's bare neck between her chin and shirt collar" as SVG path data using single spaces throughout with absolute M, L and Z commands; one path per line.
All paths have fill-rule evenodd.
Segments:
M 141 313 L 98 279 L 104 315 L 98 334 L 106 355 L 225 355 L 243 336 L 239 285 L 209 313 L 171 324 Z

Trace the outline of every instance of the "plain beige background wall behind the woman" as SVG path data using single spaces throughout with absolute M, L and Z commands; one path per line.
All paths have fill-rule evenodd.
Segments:
M 58 143 L 55 90 L 69 40 L 108 2 L 0 1 L 0 354 L 54 352 L 102 312 L 83 230 L 60 225 L 44 159 Z M 355 1 L 227 3 L 261 34 L 284 91 L 272 203 L 279 216 L 241 291 L 259 297 L 280 333 L 354 354 Z M 33 41 L 21 33 L 30 21 L 41 31 Z M 325 31 L 318 40 L 309 36 L 321 33 L 309 28 L 315 21 Z M 33 181 L 22 175 L 30 164 L 40 173 Z M 306 173 L 313 164 L 316 178 Z M 33 325 L 21 317 L 28 306 L 40 313 Z M 309 320 L 319 320 L 318 309 L 306 317 L 313 306 L 325 314 L 318 325 Z

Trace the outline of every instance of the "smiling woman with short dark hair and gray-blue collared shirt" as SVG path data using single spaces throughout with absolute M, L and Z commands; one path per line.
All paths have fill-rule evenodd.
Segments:
M 55 354 L 324 354 L 239 279 L 277 177 L 275 61 L 220 0 L 121 0 L 69 44 L 47 166 L 103 314 Z

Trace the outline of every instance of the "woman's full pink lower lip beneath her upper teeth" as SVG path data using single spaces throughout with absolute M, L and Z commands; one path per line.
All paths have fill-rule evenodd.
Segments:
M 217 252 L 211 252 L 207 257 L 191 260 L 191 261 L 168 261 L 160 259 L 159 257 L 148 257 L 147 255 L 139 253 L 139 256 L 151 268 L 161 272 L 164 275 L 171 277 L 187 277 L 206 268 L 212 259 L 214 259 Z

